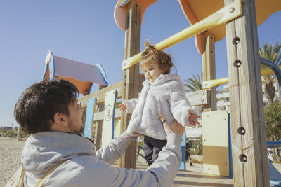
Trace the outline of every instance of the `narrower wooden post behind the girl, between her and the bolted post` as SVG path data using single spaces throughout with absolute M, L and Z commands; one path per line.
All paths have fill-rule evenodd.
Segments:
M 202 81 L 216 79 L 215 37 L 206 34 L 202 39 L 202 47 Z M 216 88 L 208 90 L 211 91 L 211 103 L 204 106 L 204 111 L 216 111 Z

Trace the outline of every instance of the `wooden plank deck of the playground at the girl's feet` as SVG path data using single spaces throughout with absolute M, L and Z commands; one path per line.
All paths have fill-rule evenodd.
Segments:
M 115 162 L 115 167 L 117 167 Z M 145 163 L 136 163 L 136 169 L 145 170 L 148 165 Z M 202 165 L 193 164 L 192 167 L 187 165 L 186 171 L 178 171 L 173 186 L 233 186 L 233 179 L 212 174 L 203 174 Z

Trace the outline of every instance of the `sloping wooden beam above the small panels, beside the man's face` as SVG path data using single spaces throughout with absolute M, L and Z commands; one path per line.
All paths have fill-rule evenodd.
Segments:
M 78 102 L 82 103 L 82 106 L 85 107 L 87 105 L 87 101 L 91 97 L 96 97 L 97 104 L 104 103 L 105 102 L 105 93 L 109 92 L 110 90 L 117 90 L 118 95 L 117 99 L 120 99 L 122 97 L 122 81 L 119 83 L 115 83 L 113 85 L 107 86 L 101 90 L 98 90 L 96 92 L 93 92 L 89 95 L 85 95 L 84 97 L 81 97 L 78 99 Z

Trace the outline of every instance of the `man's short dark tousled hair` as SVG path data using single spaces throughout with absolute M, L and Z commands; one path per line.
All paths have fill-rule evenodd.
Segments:
M 50 130 L 55 113 L 69 115 L 68 106 L 77 101 L 75 85 L 63 79 L 45 79 L 27 88 L 15 104 L 15 120 L 27 134 Z

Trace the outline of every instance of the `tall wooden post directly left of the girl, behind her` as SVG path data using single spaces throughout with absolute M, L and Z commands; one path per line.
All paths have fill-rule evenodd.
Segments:
M 126 33 L 125 33 L 125 53 L 124 59 L 136 55 L 140 52 L 141 46 L 141 4 L 132 0 L 126 6 Z M 123 74 L 123 95 L 122 99 L 138 98 L 141 91 L 139 64 L 124 71 Z M 131 115 L 122 112 L 121 133 L 129 124 Z M 133 141 L 127 148 L 122 158 L 119 159 L 118 167 L 136 168 L 136 141 Z

